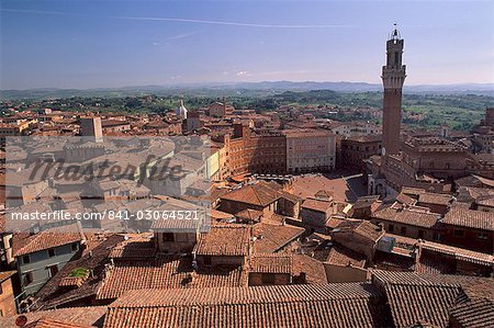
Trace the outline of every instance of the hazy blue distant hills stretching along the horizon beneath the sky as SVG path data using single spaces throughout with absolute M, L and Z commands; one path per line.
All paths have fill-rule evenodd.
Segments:
M 379 92 L 380 83 L 366 82 L 293 82 L 293 81 L 262 81 L 262 82 L 216 82 L 190 83 L 173 86 L 135 86 L 124 88 L 98 89 L 30 89 L 30 90 L 1 90 L 0 99 L 46 99 L 70 97 L 132 97 L 141 94 L 262 94 L 283 91 L 333 90 L 337 92 Z M 249 91 L 249 92 L 246 92 Z M 262 91 L 260 93 L 252 91 Z M 494 97 L 494 83 L 460 83 L 460 84 L 420 84 L 404 87 L 405 93 L 435 93 L 435 94 L 484 94 Z

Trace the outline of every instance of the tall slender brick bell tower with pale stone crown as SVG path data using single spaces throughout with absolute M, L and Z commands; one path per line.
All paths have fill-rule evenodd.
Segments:
M 405 81 L 405 65 L 402 65 L 404 41 L 400 32 L 391 32 L 386 42 L 386 65 L 382 67 L 384 86 L 382 120 L 382 155 L 400 152 L 400 124 L 402 122 L 402 88 Z

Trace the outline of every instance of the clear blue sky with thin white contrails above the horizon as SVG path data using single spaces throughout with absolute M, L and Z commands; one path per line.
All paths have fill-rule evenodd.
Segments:
M 0 0 L 0 89 L 380 83 L 395 22 L 406 84 L 494 82 L 494 1 Z

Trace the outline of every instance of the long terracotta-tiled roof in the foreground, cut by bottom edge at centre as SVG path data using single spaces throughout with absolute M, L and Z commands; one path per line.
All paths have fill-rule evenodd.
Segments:
M 105 328 L 383 327 L 379 293 L 368 284 L 284 285 L 130 292 L 114 302 Z

